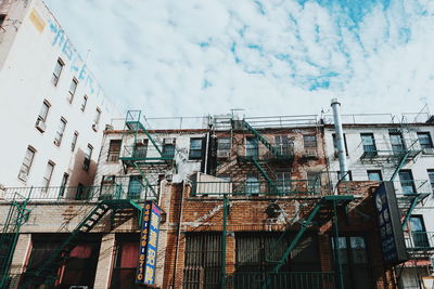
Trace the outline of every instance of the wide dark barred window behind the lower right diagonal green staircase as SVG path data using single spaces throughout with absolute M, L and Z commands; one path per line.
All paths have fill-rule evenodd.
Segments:
M 265 288 L 264 273 L 271 272 L 281 260 L 295 234 L 235 233 L 235 286 L 234 288 Z M 318 279 L 289 272 L 318 272 L 321 268 L 317 238 L 307 233 L 282 264 L 278 278 L 271 278 L 267 288 L 322 288 Z M 275 262 L 273 262 L 275 261 Z M 286 274 L 285 274 L 286 273 Z M 291 286 L 290 286 L 291 285 Z M 349 287 L 348 287 L 349 288 Z

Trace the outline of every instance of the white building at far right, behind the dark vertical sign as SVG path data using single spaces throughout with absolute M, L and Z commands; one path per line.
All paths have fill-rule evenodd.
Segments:
M 431 275 L 434 253 L 433 118 L 429 114 L 343 115 L 343 131 L 348 181 L 394 181 L 398 207 L 407 214 L 401 221 L 407 221 L 403 228 L 410 258 L 396 274 L 401 288 L 423 288 L 422 277 Z M 324 139 L 336 181 L 340 163 L 333 124 L 324 126 Z M 417 206 L 410 210 L 412 201 Z

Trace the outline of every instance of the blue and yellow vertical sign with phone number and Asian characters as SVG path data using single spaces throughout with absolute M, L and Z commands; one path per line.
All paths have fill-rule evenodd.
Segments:
M 146 201 L 142 219 L 137 284 L 154 285 L 155 264 L 162 210 L 152 201 Z

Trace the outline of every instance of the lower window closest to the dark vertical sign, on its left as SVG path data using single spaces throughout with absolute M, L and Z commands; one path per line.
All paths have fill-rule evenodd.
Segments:
M 333 238 L 331 240 L 334 250 Z M 365 238 L 361 236 L 339 237 L 337 248 L 344 275 L 344 288 L 373 288 Z

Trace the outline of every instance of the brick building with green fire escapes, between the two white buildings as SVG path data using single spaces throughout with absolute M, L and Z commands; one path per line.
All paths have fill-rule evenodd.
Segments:
M 144 200 L 162 210 L 150 275 L 157 287 L 398 287 L 374 207 L 382 183 L 337 178 L 324 121 L 143 123 L 129 111 L 123 129 L 104 132 L 93 186 L 48 189 L 14 206 L 16 189 L 4 189 L 0 215 L 13 220 L 11 242 L 17 238 L 11 288 L 138 288 Z

